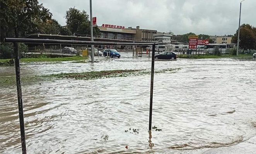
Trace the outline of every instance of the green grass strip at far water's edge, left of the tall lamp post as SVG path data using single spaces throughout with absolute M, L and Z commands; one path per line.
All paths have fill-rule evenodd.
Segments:
M 48 58 L 46 56 L 41 56 L 38 58 L 22 58 L 20 62 L 61 62 L 61 61 L 72 61 L 72 60 L 86 60 L 87 57 L 73 56 L 73 57 L 56 57 Z M 0 62 L 6 62 L 10 59 L 0 59 Z

